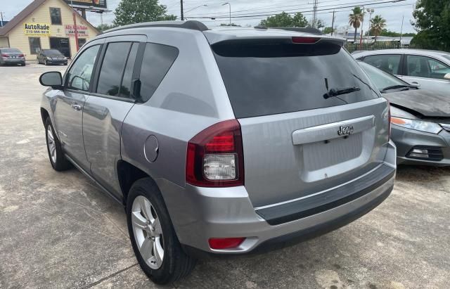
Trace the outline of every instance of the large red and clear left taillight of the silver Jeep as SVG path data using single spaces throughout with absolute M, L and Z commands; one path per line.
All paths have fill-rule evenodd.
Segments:
M 213 124 L 188 142 L 186 183 L 193 186 L 243 186 L 244 155 L 240 124 Z

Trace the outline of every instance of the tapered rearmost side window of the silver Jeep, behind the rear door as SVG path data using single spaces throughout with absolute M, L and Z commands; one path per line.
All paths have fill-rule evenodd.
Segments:
M 146 44 L 141 66 L 141 98 L 148 101 L 178 56 L 176 47 Z

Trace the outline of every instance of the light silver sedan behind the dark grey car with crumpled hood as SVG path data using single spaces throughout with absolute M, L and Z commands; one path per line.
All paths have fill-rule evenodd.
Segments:
M 353 53 L 357 60 L 385 70 L 422 89 L 450 91 L 450 53 L 420 49 L 387 49 Z

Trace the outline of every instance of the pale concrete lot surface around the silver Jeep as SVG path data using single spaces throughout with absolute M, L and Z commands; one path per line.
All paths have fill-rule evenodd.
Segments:
M 49 164 L 39 75 L 0 67 L 0 288 L 154 288 L 123 208 Z M 200 261 L 181 288 L 449 288 L 450 169 L 399 167 L 392 195 L 342 229 L 266 255 Z

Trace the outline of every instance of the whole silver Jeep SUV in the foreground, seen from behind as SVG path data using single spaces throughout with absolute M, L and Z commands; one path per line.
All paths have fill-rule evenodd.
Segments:
M 396 172 L 388 103 L 342 45 L 197 21 L 108 30 L 40 77 L 51 165 L 126 207 L 155 283 L 337 229 Z

